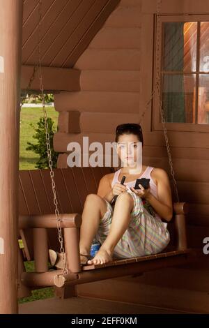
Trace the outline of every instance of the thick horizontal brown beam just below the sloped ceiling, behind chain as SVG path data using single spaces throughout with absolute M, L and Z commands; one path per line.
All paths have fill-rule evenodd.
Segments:
M 31 76 L 33 75 L 33 66 L 22 65 L 21 88 L 27 89 Z M 42 66 L 42 76 L 44 89 L 46 91 L 79 91 L 80 70 L 71 68 L 56 68 Z M 39 91 L 38 70 L 31 90 Z

